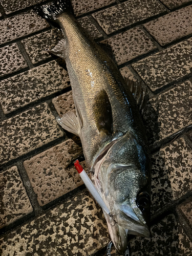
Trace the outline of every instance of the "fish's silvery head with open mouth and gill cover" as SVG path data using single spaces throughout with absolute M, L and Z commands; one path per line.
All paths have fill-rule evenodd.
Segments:
M 111 239 L 120 254 L 127 236 L 150 237 L 151 162 L 136 138 L 125 134 L 100 160 L 96 187 L 110 210 L 104 216 Z

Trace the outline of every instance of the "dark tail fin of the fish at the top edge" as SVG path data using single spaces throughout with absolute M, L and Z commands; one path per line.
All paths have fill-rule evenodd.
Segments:
M 37 5 L 33 9 L 39 16 L 48 20 L 56 20 L 56 16 L 63 12 L 74 14 L 70 0 L 54 0 L 51 4 Z

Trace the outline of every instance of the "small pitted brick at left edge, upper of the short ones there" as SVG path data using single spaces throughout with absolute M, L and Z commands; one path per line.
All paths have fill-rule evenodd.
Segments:
M 27 68 L 27 63 L 16 44 L 0 48 L 0 77 Z

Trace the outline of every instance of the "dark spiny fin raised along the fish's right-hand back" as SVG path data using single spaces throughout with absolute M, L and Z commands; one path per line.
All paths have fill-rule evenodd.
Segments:
M 124 77 L 124 79 L 127 87 L 129 88 L 137 102 L 140 113 L 143 114 L 148 100 L 148 97 L 146 96 L 146 86 L 143 88 L 141 86 L 141 81 L 133 81 L 130 80 L 129 77 Z

